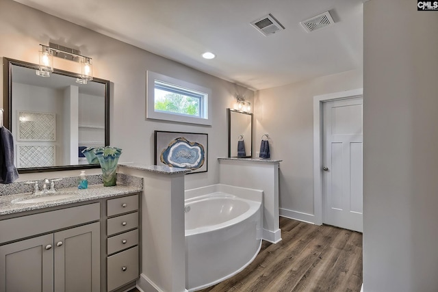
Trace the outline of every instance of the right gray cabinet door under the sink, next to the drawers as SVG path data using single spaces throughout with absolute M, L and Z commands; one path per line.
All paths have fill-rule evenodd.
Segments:
M 100 223 L 54 234 L 55 291 L 99 292 Z

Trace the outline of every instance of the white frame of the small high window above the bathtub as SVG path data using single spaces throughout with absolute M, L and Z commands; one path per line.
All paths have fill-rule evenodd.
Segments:
M 166 111 L 155 111 L 155 80 L 175 85 L 182 89 L 193 90 L 205 94 L 203 98 L 203 114 L 201 117 L 188 116 L 185 114 L 170 113 Z M 211 90 L 201 85 L 182 81 L 173 77 L 162 75 L 156 72 L 146 72 L 146 118 L 155 120 L 167 120 L 172 122 L 187 122 L 190 124 L 203 124 L 211 126 L 211 103 L 209 98 Z

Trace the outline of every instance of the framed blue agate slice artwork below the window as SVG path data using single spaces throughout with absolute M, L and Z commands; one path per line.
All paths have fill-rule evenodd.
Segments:
M 154 164 L 207 172 L 208 134 L 154 132 Z

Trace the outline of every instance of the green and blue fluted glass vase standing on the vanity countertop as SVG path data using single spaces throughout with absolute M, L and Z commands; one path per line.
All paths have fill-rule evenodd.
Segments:
M 99 147 L 92 151 L 101 164 L 103 186 L 112 187 L 116 185 L 118 157 L 122 154 L 122 149 L 116 147 Z

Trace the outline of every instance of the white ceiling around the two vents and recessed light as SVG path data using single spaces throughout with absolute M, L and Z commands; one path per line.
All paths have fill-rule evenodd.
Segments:
M 15 1 L 255 90 L 362 68 L 364 0 Z M 302 29 L 327 10 L 334 25 Z M 285 30 L 266 37 L 250 22 L 268 13 Z

